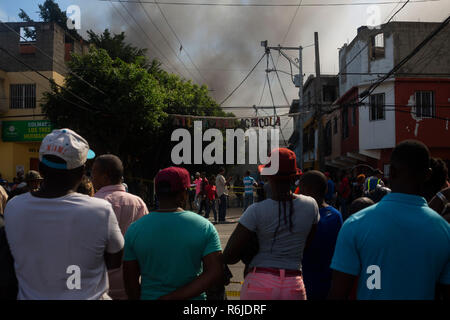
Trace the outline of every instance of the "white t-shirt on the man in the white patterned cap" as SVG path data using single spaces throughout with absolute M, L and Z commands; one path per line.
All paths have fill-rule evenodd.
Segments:
M 124 245 L 109 202 L 79 193 L 52 199 L 25 193 L 6 205 L 5 228 L 19 282 L 18 299 L 104 298 L 108 291 L 104 253 L 117 253 Z M 79 267 L 79 289 L 77 267 L 69 266 Z

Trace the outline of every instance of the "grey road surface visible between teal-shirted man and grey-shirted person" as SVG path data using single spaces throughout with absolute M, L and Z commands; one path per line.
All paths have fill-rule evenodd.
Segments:
M 222 244 L 222 249 L 225 249 L 227 245 L 228 239 L 236 228 L 237 221 L 242 214 L 241 208 L 229 208 L 227 210 L 227 222 L 216 224 L 215 227 L 217 232 L 219 232 L 220 242 Z M 212 214 L 210 214 L 211 216 Z M 210 221 L 214 219 L 210 217 Z M 226 287 L 227 296 L 229 300 L 239 300 L 239 291 L 241 289 L 240 282 L 244 281 L 244 264 L 239 262 L 234 265 L 228 266 L 233 274 L 233 278 L 231 279 L 232 283 Z M 239 283 L 234 283 L 239 282 Z

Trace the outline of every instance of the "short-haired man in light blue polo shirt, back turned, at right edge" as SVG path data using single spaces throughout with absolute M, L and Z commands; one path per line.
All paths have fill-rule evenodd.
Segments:
M 356 281 L 363 300 L 432 300 L 438 283 L 450 298 L 450 226 L 421 196 L 429 162 L 421 142 L 394 149 L 392 193 L 352 215 L 339 232 L 330 298 L 347 299 Z

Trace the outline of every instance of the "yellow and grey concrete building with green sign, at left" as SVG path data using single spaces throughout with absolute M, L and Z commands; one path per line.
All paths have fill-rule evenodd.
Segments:
M 88 47 L 44 22 L 0 24 L 0 46 L 9 53 L 0 51 L 0 173 L 12 181 L 38 168 L 40 142 L 52 130 L 41 110 L 50 83 L 32 69 L 62 85 L 71 53 Z

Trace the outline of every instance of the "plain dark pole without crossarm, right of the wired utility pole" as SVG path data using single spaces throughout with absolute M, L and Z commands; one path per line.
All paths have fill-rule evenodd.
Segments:
M 320 77 L 320 56 L 319 56 L 319 33 L 314 32 L 314 48 L 315 48 L 315 57 L 316 57 L 316 86 L 315 86 L 315 102 L 316 102 L 316 111 L 315 111 L 315 120 L 318 122 L 317 130 L 318 130 L 318 146 L 317 146 L 317 160 L 319 162 L 319 170 L 325 169 L 325 161 L 324 161 L 324 141 L 323 141 L 323 122 L 322 122 L 322 79 Z

